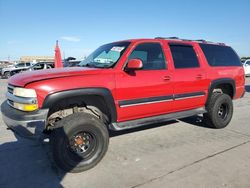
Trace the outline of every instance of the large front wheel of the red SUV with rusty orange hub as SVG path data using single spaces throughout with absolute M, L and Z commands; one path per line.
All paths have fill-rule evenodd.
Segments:
M 51 135 L 56 164 L 69 172 L 94 167 L 105 155 L 109 134 L 104 123 L 94 115 L 75 113 L 58 122 Z

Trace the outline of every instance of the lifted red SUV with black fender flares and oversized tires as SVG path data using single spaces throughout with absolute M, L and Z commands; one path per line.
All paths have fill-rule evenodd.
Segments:
M 103 45 L 75 68 L 9 79 L 4 122 L 19 134 L 50 133 L 55 162 L 80 172 L 105 155 L 108 130 L 203 114 L 226 127 L 244 95 L 239 57 L 225 44 L 155 38 Z

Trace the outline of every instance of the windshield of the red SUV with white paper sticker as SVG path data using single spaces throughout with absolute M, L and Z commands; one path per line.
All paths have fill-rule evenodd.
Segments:
M 81 67 L 110 68 L 120 59 L 130 42 L 105 44 L 79 63 Z

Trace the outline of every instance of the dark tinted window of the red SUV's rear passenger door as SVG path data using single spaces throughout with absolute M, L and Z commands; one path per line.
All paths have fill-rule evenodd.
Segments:
M 170 45 L 176 69 L 199 67 L 199 61 L 192 46 Z

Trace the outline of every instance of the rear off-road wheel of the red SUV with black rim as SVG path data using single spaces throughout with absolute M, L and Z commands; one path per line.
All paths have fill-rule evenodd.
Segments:
M 213 93 L 206 105 L 207 113 L 203 114 L 203 122 L 215 129 L 226 127 L 233 116 L 233 103 L 229 95 Z

